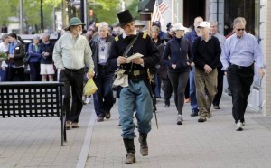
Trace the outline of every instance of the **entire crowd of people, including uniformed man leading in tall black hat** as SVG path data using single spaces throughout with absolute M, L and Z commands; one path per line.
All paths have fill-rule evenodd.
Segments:
M 93 79 L 98 91 L 93 95 L 97 122 L 110 119 L 111 108 L 118 98 L 119 124 L 126 149 L 125 163 L 135 163 L 135 122 L 139 132 L 140 153 L 148 155 L 147 136 L 151 119 L 157 110 L 156 98 L 164 92 L 164 107 L 174 98 L 177 125 L 182 125 L 182 109 L 191 103 L 191 117 L 198 122 L 212 117 L 212 109 L 220 109 L 223 77 L 227 76 L 232 94 L 232 115 L 238 131 L 245 125 L 248 95 L 257 67 L 261 77 L 266 65 L 256 38 L 247 33 L 245 18 L 233 22 L 233 33 L 226 39 L 218 32 L 216 21 L 194 19 L 192 31 L 182 23 L 168 23 L 167 32 L 156 21 L 145 31 L 145 24 L 135 21 L 128 10 L 117 14 L 119 23 L 113 28 L 98 23 L 82 35 L 79 18 L 70 19 L 65 33 L 54 43 L 47 33 L 34 35 L 28 45 L 27 63 L 32 81 L 52 81 L 55 74 L 64 82 L 66 128 L 79 128 L 83 107 L 83 87 Z M 120 33 L 120 30 L 122 33 Z M 40 42 L 42 38 L 42 42 Z M 1 80 L 24 80 L 25 47 L 16 33 L 2 35 L 0 52 L 7 59 L 1 62 Z M 129 57 L 135 57 L 130 60 Z M 122 71 L 122 73 L 118 73 Z M 117 74 L 117 75 L 116 75 Z M 115 82 L 114 82 L 115 83 Z M 189 94 L 185 94 L 188 93 Z

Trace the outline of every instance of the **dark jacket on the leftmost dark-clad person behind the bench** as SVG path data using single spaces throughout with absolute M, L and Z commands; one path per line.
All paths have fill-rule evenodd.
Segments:
M 11 45 L 9 45 L 7 54 L 9 54 Z M 7 64 L 14 64 L 15 67 L 20 67 L 23 66 L 23 58 L 24 58 L 24 46 L 23 43 L 18 42 L 17 45 L 14 47 L 14 58 L 12 59 L 7 59 L 6 63 Z

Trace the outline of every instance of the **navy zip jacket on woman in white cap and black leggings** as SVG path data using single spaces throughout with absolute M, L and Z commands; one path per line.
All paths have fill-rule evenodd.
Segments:
M 191 63 L 193 61 L 190 42 L 184 37 L 179 40 L 174 37 L 166 43 L 162 59 L 168 66 L 169 72 L 189 71 L 190 66 L 187 65 L 187 62 Z M 176 64 L 175 69 L 172 68 L 173 64 Z

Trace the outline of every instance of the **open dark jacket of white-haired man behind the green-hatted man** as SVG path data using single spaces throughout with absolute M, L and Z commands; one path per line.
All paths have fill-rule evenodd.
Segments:
M 114 37 L 111 35 L 108 35 L 107 37 L 107 43 L 108 43 L 108 53 L 110 53 L 110 47 L 112 42 L 114 41 Z M 91 51 L 92 51 L 92 59 L 94 62 L 94 71 L 95 71 L 95 75 L 97 75 L 98 73 L 98 49 L 99 49 L 99 42 L 98 42 L 98 36 L 94 37 L 90 42 L 89 42 Z M 108 70 L 107 72 L 114 72 L 115 70 Z

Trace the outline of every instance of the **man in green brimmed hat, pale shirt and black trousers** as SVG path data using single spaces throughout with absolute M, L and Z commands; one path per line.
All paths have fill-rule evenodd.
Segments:
M 53 61 L 60 70 L 59 80 L 64 82 L 64 107 L 66 112 L 66 128 L 78 128 L 79 115 L 83 107 L 84 68 L 89 68 L 88 78 L 94 76 L 92 52 L 86 37 L 82 36 L 82 23 L 79 18 L 70 19 L 68 32 L 61 36 L 53 49 Z M 70 97 L 70 89 L 72 96 Z M 70 107 L 70 98 L 72 98 Z

